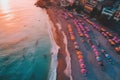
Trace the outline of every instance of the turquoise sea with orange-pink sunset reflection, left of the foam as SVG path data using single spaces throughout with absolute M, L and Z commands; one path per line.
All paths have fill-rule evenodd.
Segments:
M 0 80 L 47 80 L 52 43 L 36 0 L 0 0 Z

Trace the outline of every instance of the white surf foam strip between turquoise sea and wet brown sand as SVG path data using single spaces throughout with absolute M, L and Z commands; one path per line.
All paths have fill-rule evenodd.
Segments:
M 57 75 L 57 54 L 58 54 L 58 49 L 59 46 L 55 43 L 53 33 L 52 33 L 52 28 L 53 28 L 53 23 L 49 20 L 48 24 L 48 32 L 50 34 L 51 38 L 51 43 L 52 43 L 52 49 L 51 49 L 51 66 L 50 66 L 50 71 L 48 75 L 48 80 L 56 80 L 56 75 Z M 54 30 L 54 29 L 53 29 Z

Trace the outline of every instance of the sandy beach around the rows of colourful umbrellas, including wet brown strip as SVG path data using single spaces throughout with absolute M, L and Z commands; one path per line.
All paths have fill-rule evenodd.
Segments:
M 51 19 L 51 21 L 54 24 L 54 27 L 52 27 L 54 39 L 57 43 L 57 45 L 60 47 L 58 52 L 58 65 L 57 65 L 57 80 L 119 80 L 120 79 L 120 56 L 113 50 L 112 46 L 108 43 L 107 39 L 99 32 L 97 31 L 92 25 L 89 23 L 86 23 L 86 21 L 82 17 L 78 17 L 77 19 L 81 20 L 82 23 L 85 23 L 85 26 L 87 26 L 91 32 L 90 37 L 94 44 L 100 43 L 102 48 L 105 48 L 105 50 L 112 56 L 112 59 L 114 60 L 114 65 L 109 64 L 104 56 L 103 62 L 104 62 L 104 69 L 102 70 L 101 67 L 98 65 L 95 54 L 91 47 L 89 46 L 86 38 L 79 37 L 77 33 L 77 29 L 75 27 L 75 24 L 73 24 L 73 19 L 65 19 L 62 16 L 62 13 L 64 10 L 59 7 L 54 6 L 42 6 L 43 8 L 46 8 L 47 13 Z M 61 25 L 61 29 L 59 29 L 59 26 L 57 24 Z M 67 29 L 68 24 L 72 25 L 72 29 L 76 38 L 76 41 L 78 42 L 78 45 L 80 47 L 81 52 L 83 53 L 85 63 L 87 66 L 87 76 L 84 77 L 82 73 L 80 72 L 80 64 L 78 61 L 78 56 L 76 55 L 76 51 L 74 48 L 73 41 L 70 40 L 70 35 Z M 97 24 L 97 23 L 96 23 Z M 101 25 L 100 25 L 101 26 Z M 109 30 L 109 29 L 108 29 Z M 66 50 L 65 50 L 65 44 L 64 44 L 64 34 L 67 37 L 67 49 L 70 53 L 71 58 L 71 75 L 67 76 L 64 71 L 66 69 L 67 63 L 66 63 Z M 111 32 L 112 33 L 112 32 Z M 98 37 L 99 36 L 99 37 Z M 100 51 L 100 47 L 98 47 L 98 51 Z

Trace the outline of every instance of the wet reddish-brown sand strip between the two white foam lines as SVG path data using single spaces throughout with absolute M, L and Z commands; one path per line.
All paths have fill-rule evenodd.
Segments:
M 67 67 L 66 63 L 66 50 L 65 50 L 65 44 L 64 44 L 64 35 L 62 34 L 61 30 L 59 30 L 59 27 L 56 23 L 58 23 L 57 19 L 54 19 L 54 9 L 48 8 L 47 13 L 50 17 L 50 20 L 53 22 L 54 26 L 52 27 L 53 37 L 55 39 L 56 44 L 60 47 L 58 51 L 58 65 L 57 65 L 57 80 L 70 80 L 70 78 L 65 75 L 64 70 Z

